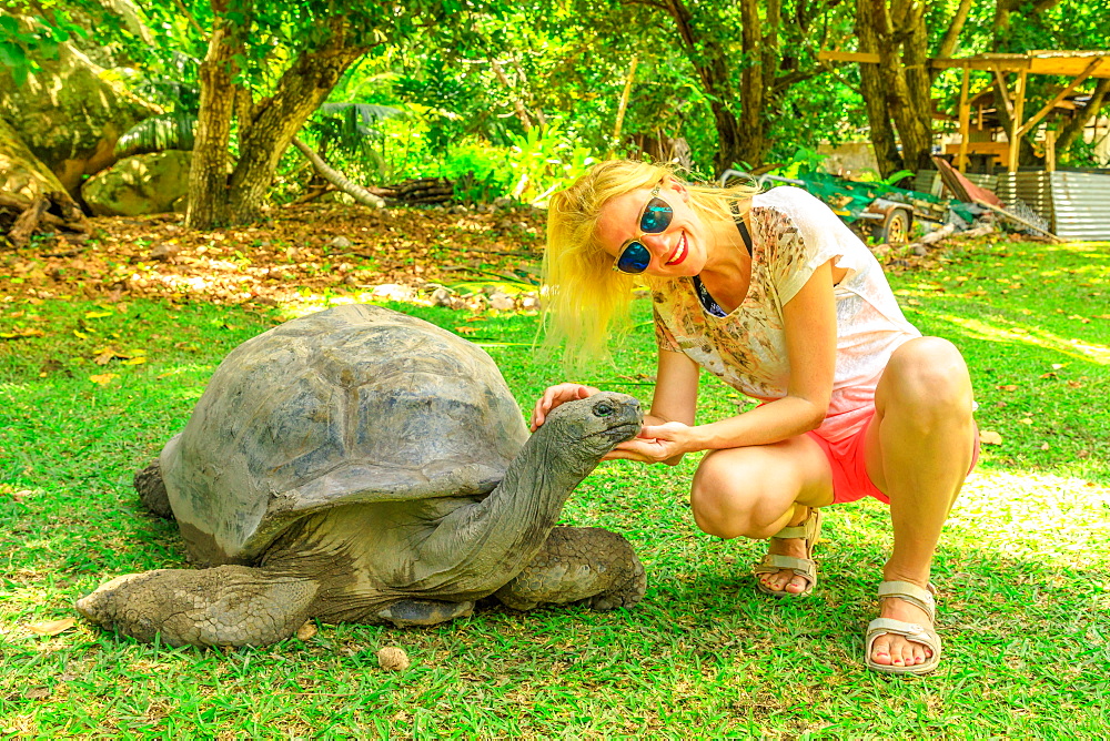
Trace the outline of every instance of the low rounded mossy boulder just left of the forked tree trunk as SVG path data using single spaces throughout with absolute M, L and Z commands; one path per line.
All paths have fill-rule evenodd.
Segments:
M 138 216 L 173 211 L 189 194 L 192 152 L 171 150 L 117 162 L 81 189 L 98 216 Z

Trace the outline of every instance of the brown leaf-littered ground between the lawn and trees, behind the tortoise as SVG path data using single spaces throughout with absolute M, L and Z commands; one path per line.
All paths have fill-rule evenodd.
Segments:
M 544 213 L 532 207 L 311 204 L 275 209 L 256 226 L 212 232 L 186 230 L 182 219 L 92 219 L 83 242 L 41 237 L 0 251 L 0 296 L 274 305 L 372 293 L 462 305 L 482 293 L 472 282 L 497 284 L 521 303 L 538 277 L 544 233 Z M 436 293 L 441 287 L 447 288 Z

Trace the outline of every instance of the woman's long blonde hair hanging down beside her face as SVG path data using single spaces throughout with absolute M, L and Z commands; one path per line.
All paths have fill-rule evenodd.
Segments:
M 609 200 L 667 179 L 685 185 L 689 204 L 703 219 L 735 219 L 733 207 L 747 203 L 758 187 L 694 185 L 666 164 L 634 160 L 598 162 L 547 206 L 547 248 L 543 286 L 545 344 L 565 343 L 567 369 L 607 356 L 610 332 L 627 326 L 632 292 L 637 276 L 613 270 L 613 256 L 597 242 L 597 220 Z

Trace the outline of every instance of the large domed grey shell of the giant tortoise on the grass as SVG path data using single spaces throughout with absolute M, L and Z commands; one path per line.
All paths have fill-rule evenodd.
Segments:
M 324 508 L 487 494 L 527 436 L 477 345 L 350 305 L 232 351 L 160 464 L 191 560 L 249 564 Z

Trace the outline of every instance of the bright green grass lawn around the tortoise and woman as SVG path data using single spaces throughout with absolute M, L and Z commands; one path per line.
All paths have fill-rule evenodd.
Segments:
M 817 591 L 783 603 L 748 576 L 764 544 L 694 526 L 696 460 L 606 464 L 564 511 L 634 542 L 649 586 L 628 611 L 487 607 L 431 629 L 322 626 L 232 651 L 141 646 L 80 621 L 37 636 L 28 626 L 74 617 L 110 577 L 183 564 L 132 473 L 181 428 L 220 359 L 279 317 L 0 305 L 0 334 L 42 333 L 0 341 L 0 737 L 1106 738 L 1110 245 L 980 246 L 891 283 L 912 322 L 963 351 L 980 427 L 1002 438 L 938 552 L 945 659 L 921 679 L 862 668 L 890 544 L 882 506 L 834 508 Z M 535 317 L 406 311 L 475 327 L 523 406 L 561 379 L 531 353 Z M 100 366 L 109 345 L 148 359 Z M 581 379 L 648 402 L 637 374 L 652 373 L 650 328 L 617 357 Z M 105 373 L 118 377 L 90 380 Z M 706 380 L 699 414 L 738 403 Z M 387 644 L 405 648 L 408 670 L 377 667 Z

